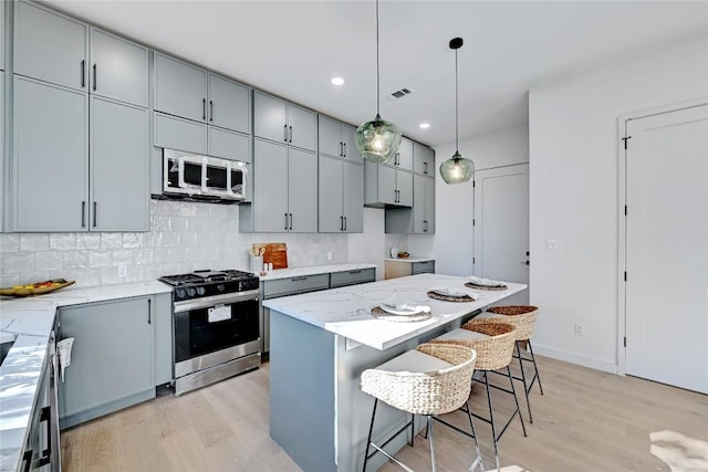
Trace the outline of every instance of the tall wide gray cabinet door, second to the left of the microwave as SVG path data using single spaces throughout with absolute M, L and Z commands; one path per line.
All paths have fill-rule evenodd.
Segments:
M 15 231 L 86 231 L 88 96 L 14 76 Z

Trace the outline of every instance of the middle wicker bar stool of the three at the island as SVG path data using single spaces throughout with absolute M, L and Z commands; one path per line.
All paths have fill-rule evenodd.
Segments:
M 517 390 L 513 386 L 513 379 L 511 377 L 511 369 L 509 368 L 509 364 L 511 363 L 513 355 L 513 346 L 516 339 L 517 329 L 510 324 L 483 323 L 472 319 L 464 324 L 461 328 L 452 329 L 448 333 L 445 333 L 442 336 L 430 340 L 430 343 L 433 344 L 441 344 L 447 346 L 466 346 L 475 349 L 475 352 L 477 353 L 477 364 L 475 368 L 478 371 L 483 373 L 483 380 L 473 380 L 485 382 L 485 386 L 487 388 L 487 402 L 489 405 L 489 418 L 485 418 L 476 413 L 471 413 L 471 416 L 491 424 L 491 434 L 494 444 L 494 460 L 497 461 L 498 470 L 500 468 L 498 442 L 517 415 L 519 416 L 519 421 L 521 422 L 521 428 L 523 429 L 523 436 L 527 436 L 527 428 L 523 424 L 523 418 L 521 417 L 521 410 L 519 408 L 519 398 L 517 397 Z M 487 373 L 503 369 L 504 367 L 507 368 L 507 375 L 509 377 L 511 390 L 507 390 L 506 388 L 489 384 L 489 377 L 487 376 Z M 490 387 L 513 395 L 513 400 L 517 406 L 516 410 L 513 411 L 504 427 L 501 429 L 501 431 L 499 431 L 499 433 L 497 433 L 497 424 L 494 422 L 494 411 L 491 401 L 491 395 L 489 391 Z

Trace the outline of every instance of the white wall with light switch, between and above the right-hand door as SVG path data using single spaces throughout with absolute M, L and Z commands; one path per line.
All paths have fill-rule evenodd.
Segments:
M 539 353 L 616 371 L 617 117 L 707 96 L 708 38 L 531 90 L 531 303 L 541 308 Z M 559 240 L 561 250 L 546 252 L 548 239 Z M 584 336 L 574 335 L 575 323 Z

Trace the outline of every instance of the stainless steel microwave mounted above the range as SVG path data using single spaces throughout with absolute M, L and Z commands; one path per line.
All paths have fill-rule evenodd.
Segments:
M 247 162 L 163 150 L 163 193 L 167 196 L 243 200 L 247 182 Z

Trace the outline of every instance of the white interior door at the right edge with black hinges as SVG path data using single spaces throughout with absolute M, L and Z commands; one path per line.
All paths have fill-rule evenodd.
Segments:
M 626 132 L 626 374 L 708 394 L 708 106 Z

